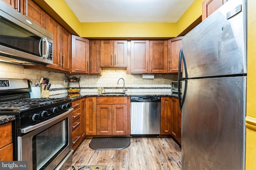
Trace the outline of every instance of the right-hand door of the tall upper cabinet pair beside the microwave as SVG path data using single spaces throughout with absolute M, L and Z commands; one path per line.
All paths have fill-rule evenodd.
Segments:
M 60 34 L 60 51 L 61 51 L 61 63 L 62 63 L 62 70 L 70 72 L 71 66 L 71 34 L 61 27 L 61 34 Z

